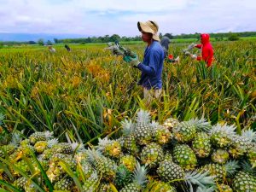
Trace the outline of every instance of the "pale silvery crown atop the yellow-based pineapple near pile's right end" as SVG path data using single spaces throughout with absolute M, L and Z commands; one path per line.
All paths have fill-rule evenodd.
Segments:
M 228 137 L 236 137 L 236 126 L 235 125 L 227 125 L 226 123 L 224 125 L 213 125 L 212 129 L 209 131 L 209 134 L 212 135 L 214 133 L 222 132 L 226 134 Z

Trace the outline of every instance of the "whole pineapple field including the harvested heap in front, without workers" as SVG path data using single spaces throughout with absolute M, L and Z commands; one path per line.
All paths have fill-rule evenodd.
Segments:
M 256 192 L 256 41 L 212 45 L 149 106 L 106 44 L 0 49 L 0 191 Z

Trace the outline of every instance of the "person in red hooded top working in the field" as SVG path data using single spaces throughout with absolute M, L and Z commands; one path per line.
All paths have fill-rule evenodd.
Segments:
M 198 48 L 201 49 L 201 55 L 193 55 L 189 51 L 186 51 L 185 54 L 189 55 L 192 59 L 197 61 L 206 61 L 207 67 L 212 66 L 213 61 L 213 49 L 212 44 L 210 43 L 210 35 L 207 33 L 201 34 L 201 44 L 190 44 L 189 48 Z

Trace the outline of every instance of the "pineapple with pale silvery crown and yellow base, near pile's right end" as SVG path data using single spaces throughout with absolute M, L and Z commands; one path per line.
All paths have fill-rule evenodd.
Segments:
M 214 125 L 209 131 L 212 145 L 217 148 L 226 148 L 230 146 L 232 138 L 236 136 L 236 127 L 234 125 Z

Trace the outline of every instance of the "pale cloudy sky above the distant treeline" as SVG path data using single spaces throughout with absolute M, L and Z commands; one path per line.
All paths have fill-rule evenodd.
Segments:
M 255 0 L 0 0 L 0 32 L 140 35 L 154 20 L 162 34 L 255 32 Z

